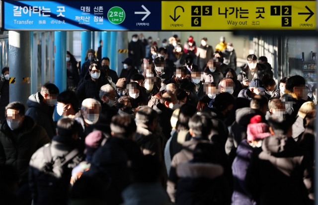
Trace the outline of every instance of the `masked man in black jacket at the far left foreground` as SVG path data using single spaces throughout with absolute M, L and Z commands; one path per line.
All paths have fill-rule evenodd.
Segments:
M 38 148 L 51 141 L 45 129 L 24 112 L 22 103 L 9 103 L 5 107 L 6 121 L 0 130 L 0 165 L 12 165 L 18 172 L 16 197 L 19 205 L 28 205 L 32 200 L 28 184 L 30 158 Z

